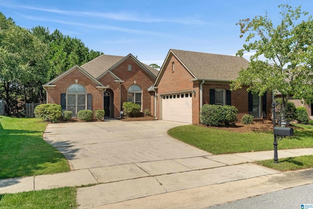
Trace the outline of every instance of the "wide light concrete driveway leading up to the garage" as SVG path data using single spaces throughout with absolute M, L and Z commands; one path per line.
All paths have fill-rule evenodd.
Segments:
M 167 135 L 185 123 L 170 121 L 49 124 L 44 139 L 62 152 L 72 170 L 211 155 Z

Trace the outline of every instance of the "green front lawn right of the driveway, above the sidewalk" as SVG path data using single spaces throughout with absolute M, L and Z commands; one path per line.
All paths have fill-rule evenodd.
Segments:
M 268 132 L 237 133 L 197 125 L 172 128 L 168 134 L 175 139 L 212 154 L 228 154 L 273 150 L 273 134 Z M 294 136 L 278 142 L 278 149 L 313 147 L 313 126 L 295 125 Z

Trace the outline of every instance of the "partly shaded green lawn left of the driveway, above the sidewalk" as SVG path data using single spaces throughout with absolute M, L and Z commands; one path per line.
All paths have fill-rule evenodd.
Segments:
M 0 116 L 0 179 L 69 171 L 64 155 L 43 139 L 46 125 Z

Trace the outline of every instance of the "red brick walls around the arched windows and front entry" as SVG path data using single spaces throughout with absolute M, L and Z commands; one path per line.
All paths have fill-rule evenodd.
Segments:
M 132 65 L 131 71 L 128 71 L 128 64 Z M 107 73 L 99 79 L 100 83 L 104 86 L 110 86 L 107 91 L 111 94 L 111 117 L 117 118 L 120 116 L 121 105 L 123 102 L 127 102 L 128 88 L 133 85 L 134 82 L 142 89 L 142 111 L 145 109 L 151 111 L 153 109 L 151 94 L 148 92 L 148 88 L 153 85 L 155 81 L 154 77 L 137 65 L 132 58 L 125 60 L 125 62 L 113 69 L 112 72 L 125 82 L 122 83 L 120 91 L 120 85 L 114 83 L 116 79 L 113 78 L 110 73 Z M 75 69 L 62 77 L 55 83 L 56 87 L 54 89 L 48 90 L 47 103 L 61 104 L 60 93 L 66 93 L 67 87 L 74 84 L 75 79 L 78 79 L 78 83 L 86 88 L 87 93 L 92 94 L 92 111 L 95 113 L 95 110 L 103 110 L 103 90 L 97 90 L 95 87 L 98 86 L 98 84 L 94 83 L 79 69 Z

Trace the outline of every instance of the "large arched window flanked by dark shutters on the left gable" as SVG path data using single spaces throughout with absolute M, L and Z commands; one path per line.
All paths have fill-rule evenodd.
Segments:
M 67 88 L 67 110 L 72 111 L 73 117 L 77 117 L 80 110 L 86 110 L 87 93 L 80 84 L 73 84 Z

